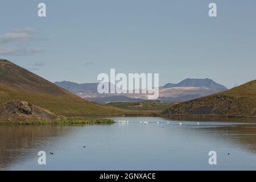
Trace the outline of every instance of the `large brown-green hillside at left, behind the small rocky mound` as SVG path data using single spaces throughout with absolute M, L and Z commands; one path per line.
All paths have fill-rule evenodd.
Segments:
M 114 107 L 85 101 L 8 60 L 0 59 L 0 105 L 12 100 L 28 101 L 55 114 L 126 113 Z

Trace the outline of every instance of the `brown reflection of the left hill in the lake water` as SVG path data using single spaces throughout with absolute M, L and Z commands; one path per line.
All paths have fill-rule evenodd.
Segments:
M 72 127 L 51 125 L 0 126 L 0 169 L 15 164 L 26 155 L 36 155 L 36 148 L 40 150 L 48 140 L 64 137 L 71 131 Z

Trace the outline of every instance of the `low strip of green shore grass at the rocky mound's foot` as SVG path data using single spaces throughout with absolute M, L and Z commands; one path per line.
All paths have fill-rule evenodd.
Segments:
M 113 124 L 113 119 L 89 119 L 83 117 L 58 117 L 54 120 L 34 120 L 34 121 L 0 121 L 0 125 L 65 125 L 65 124 L 82 124 L 82 125 L 92 125 L 92 124 Z

